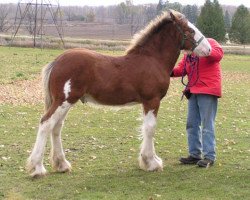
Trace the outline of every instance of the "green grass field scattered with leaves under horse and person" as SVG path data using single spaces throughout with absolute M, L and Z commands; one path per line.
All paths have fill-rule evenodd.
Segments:
M 41 67 L 61 52 L 0 47 L 0 88 L 4 91 L 5 86 L 32 83 Z M 31 179 L 25 162 L 43 113 L 42 100 L 32 104 L 2 101 L 0 199 L 249 199 L 249 66 L 250 56 L 225 55 L 222 61 L 223 98 L 216 120 L 218 156 L 215 166 L 208 169 L 178 163 L 180 156 L 187 155 L 187 101 L 180 101 L 182 85 L 178 79 L 172 80 L 158 115 L 155 144 L 164 161 L 163 172 L 138 168 L 140 106 L 111 110 L 78 103 L 69 113 L 62 134 L 72 173 L 52 171 L 48 144 L 45 166 L 49 175 Z

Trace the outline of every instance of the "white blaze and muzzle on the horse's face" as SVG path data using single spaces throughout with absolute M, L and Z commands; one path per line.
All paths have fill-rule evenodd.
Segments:
M 194 53 L 197 56 L 209 56 L 211 52 L 211 45 L 209 44 L 205 36 L 192 23 L 188 22 L 188 26 L 195 31 L 194 39 L 196 42 L 204 37 L 204 39 L 194 49 Z

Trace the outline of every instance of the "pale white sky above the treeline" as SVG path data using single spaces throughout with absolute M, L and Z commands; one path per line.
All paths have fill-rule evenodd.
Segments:
M 36 0 L 21 0 L 22 2 L 35 2 Z M 42 0 L 38 0 L 41 2 Z M 43 0 L 44 2 L 57 2 L 58 0 Z M 213 1 L 213 0 L 211 0 Z M 17 3 L 19 0 L 0 0 L 0 3 Z M 125 0 L 59 0 L 61 6 L 65 5 L 72 5 L 72 6 L 108 6 L 108 5 L 117 5 L 121 2 L 125 2 Z M 159 0 L 133 0 L 134 4 L 146 4 L 146 3 L 158 3 Z M 170 3 L 180 2 L 182 5 L 186 4 L 196 4 L 196 5 L 203 5 L 205 0 L 170 0 Z M 243 4 L 246 7 L 250 7 L 250 0 L 219 0 L 220 4 L 223 5 L 235 5 L 239 6 Z

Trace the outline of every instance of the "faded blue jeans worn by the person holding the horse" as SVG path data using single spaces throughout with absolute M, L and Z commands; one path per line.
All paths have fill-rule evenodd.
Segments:
M 215 160 L 215 117 L 218 98 L 208 94 L 192 94 L 188 100 L 187 138 L 189 155 Z

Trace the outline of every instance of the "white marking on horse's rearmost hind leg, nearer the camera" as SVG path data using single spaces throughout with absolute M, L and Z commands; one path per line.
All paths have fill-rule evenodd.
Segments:
M 33 172 L 31 173 L 32 177 L 43 176 L 46 174 L 46 170 L 43 166 L 43 156 L 47 137 L 52 133 L 56 124 L 66 116 L 70 107 L 71 104 L 65 101 L 56 109 L 54 114 L 47 121 L 39 125 L 36 142 L 27 162 L 28 171 Z

